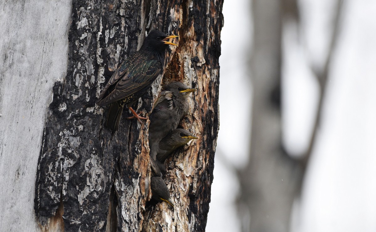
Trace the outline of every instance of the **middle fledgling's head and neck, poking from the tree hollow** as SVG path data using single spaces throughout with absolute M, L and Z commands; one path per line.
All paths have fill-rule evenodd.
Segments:
M 159 142 L 157 160 L 163 164 L 174 150 L 194 139 L 197 139 L 197 137 L 188 130 L 175 129 Z

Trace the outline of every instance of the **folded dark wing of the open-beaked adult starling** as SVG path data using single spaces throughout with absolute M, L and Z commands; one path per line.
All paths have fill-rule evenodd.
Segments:
M 156 59 L 143 59 L 139 53 L 126 59 L 112 75 L 98 100 L 98 105 L 139 98 L 161 72 L 161 63 Z

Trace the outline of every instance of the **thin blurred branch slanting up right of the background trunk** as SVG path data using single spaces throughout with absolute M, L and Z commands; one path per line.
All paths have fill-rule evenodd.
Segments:
M 312 154 L 313 146 L 317 139 L 317 131 L 318 127 L 321 122 L 321 114 L 323 109 L 323 99 L 324 95 L 326 94 L 326 87 L 327 87 L 327 79 L 328 79 L 328 73 L 329 73 L 329 66 L 331 65 L 334 57 L 334 52 L 338 44 L 338 38 L 340 34 L 340 19 L 341 19 L 341 13 L 343 9 L 343 0 L 337 0 L 337 8 L 335 10 L 334 15 L 334 23 L 333 23 L 333 30 L 331 35 L 331 42 L 329 46 L 329 51 L 326 57 L 326 62 L 324 64 L 324 67 L 321 70 L 318 70 L 318 68 L 314 68 L 313 65 L 311 65 L 311 70 L 317 77 L 318 84 L 320 85 L 320 95 L 318 100 L 318 108 L 317 113 L 315 117 L 315 123 L 312 131 L 311 141 L 309 142 L 309 147 L 306 150 L 305 155 L 303 155 L 302 159 L 300 160 L 300 165 L 302 166 L 303 170 L 307 167 L 309 158 Z

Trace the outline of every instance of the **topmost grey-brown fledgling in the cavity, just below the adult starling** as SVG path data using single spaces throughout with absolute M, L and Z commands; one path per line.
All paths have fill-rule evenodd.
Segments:
M 176 129 L 186 115 L 189 108 L 187 98 L 194 91 L 196 89 L 181 82 L 171 82 L 164 86 L 149 117 L 150 157 L 156 158 L 159 141 Z

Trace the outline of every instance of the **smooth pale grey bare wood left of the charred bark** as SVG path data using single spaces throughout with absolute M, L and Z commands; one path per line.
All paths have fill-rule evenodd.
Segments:
M 0 3 L 1 231 L 41 231 L 35 174 L 52 86 L 67 73 L 70 11 L 70 1 Z

